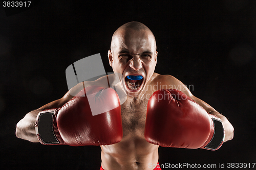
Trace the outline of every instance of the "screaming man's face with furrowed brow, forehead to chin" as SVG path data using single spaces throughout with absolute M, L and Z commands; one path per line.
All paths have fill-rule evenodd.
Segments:
M 108 53 L 110 65 L 114 72 L 122 74 L 122 86 L 127 94 L 136 97 L 145 88 L 156 67 L 154 35 L 150 31 L 121 30 L 112 44 Z M 142 79 L 131 79 L 133 76 L 142 76 Z

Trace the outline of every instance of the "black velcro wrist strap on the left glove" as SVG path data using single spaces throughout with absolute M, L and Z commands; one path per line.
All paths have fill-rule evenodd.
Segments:
M 45 144 L 60 143 L 54 133 L 53 129 L 54 112 L 40 113 L 38 118 L 38 133 Z

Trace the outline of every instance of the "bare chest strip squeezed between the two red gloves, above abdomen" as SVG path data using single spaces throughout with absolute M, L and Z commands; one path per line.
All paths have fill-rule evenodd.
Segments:
M 133 133 L 144 136 L 148 100 L 126 101 L 121 105 L 123 137 Z

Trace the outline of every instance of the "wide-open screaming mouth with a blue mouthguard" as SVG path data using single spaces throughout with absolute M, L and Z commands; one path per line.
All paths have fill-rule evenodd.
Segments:
M 138 90 L 143 82 L 142 76 L 126 76 L 125 83 L 130 90 Z

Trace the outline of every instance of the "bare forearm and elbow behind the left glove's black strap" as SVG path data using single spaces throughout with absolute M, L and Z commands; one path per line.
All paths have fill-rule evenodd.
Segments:
M 31 111 L 23 119 L 19 120 L 16 126 L 16 136 L 18 138 L 39 142 L 35 132 L 35 120 L 40 111 L 41 109 Z

